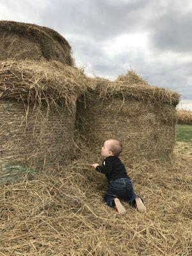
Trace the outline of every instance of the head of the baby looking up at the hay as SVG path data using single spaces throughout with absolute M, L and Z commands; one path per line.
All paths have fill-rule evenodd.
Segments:
M 119 156 L 122 152 L 122 143 L 119 140 L 109 139 L 104 142 L 101 148 L 101 156 Z

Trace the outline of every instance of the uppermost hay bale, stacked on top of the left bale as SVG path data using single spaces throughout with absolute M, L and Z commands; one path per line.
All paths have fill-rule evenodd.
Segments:
M 58 60 L 73 66 L 67 40 L 50 28 L 14 21 L 0 21 L 0 60 Z

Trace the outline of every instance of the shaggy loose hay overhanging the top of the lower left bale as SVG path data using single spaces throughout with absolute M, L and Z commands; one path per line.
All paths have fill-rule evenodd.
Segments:
M 86 84 L 83 70 L 58 61 L 0 61 L 0 99 L 75 105 Z

